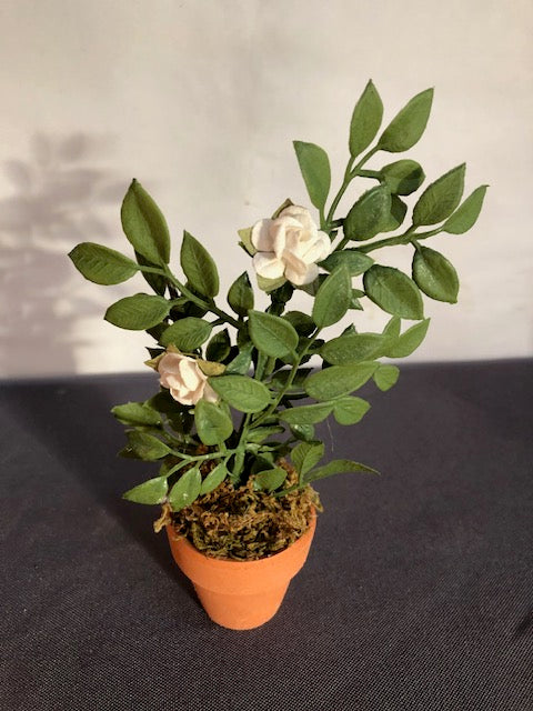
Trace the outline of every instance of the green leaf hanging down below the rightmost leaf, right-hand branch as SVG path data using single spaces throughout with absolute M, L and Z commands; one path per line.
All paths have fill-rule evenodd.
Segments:
M 440 252 L 419 247 L 413 257 L 413 279 L 431 299 L 456 303 L 459 277 L 453 264 Z

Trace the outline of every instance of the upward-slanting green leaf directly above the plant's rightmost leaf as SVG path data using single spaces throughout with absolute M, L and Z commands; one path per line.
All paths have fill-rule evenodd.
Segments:
M 464 163 L 452 168 L 428 186 L 414 206 L 414 226 L 436 224 L 452 214 L 463 194 L 465 168 Z

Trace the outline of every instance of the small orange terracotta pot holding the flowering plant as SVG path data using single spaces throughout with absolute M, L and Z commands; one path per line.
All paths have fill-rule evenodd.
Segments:
M 260 560 L 208 558 L 167 527 L 170 548 L 190 578 L 209 617 L 230 630 L 251 630 L 278 612 L 292 578 L 303 567 L 313 540 L 316 518 L 308 531 L 281 553 Z

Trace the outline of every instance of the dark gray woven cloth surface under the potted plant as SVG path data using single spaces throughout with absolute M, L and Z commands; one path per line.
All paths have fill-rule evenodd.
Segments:
M 0 709 L 533 709 L 532 363 L 406 367 L 330 457 L 308 563 L 261 629 L 212 624 L 120 494 L 118 375 L 1 385 Z

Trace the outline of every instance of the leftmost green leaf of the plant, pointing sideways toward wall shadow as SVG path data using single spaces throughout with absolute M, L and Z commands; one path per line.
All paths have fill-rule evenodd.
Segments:
M 120 284 L 139 271 L 128 257 L 94 242 L 77 244 L 69 257 L 78 271 L 95 284 Z

